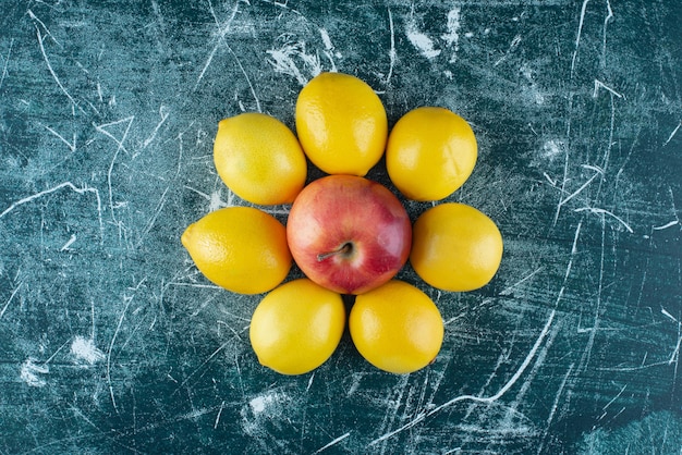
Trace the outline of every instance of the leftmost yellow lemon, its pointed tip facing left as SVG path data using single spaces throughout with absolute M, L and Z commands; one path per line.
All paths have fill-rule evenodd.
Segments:
M 191 224 L 181 241 L 208 280 L 240 294 L 272 290 L 292 263 L 282 223 L 253 207 L 212 211 Z

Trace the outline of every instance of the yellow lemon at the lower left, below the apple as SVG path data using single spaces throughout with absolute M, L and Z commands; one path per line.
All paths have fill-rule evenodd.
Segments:
M 344 325 L 341 296 L 299 279 L 263 298 L 251 318 L 248 336 L 261 365 L 282 374 L 303 374 L 331 356 Z

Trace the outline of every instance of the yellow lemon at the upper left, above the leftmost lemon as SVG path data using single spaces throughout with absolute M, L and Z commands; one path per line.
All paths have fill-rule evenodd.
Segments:
M 235 195 L 259 205 L 293 202 L 307 174 L 305 155 L 291 130 L 256 112 L 220 121 L 214 162 Z

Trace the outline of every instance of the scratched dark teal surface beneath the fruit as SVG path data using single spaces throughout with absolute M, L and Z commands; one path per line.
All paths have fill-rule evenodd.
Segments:
M 679 1 L 0 13 L 0 454 L 680 453 Z M 245 204 L 212 165 L 218 121 L 293 127 L 320 71 L 365 79 L 391 124 L 443 106 L 478 138 L 449 200 L 498 223 L 504 258 L 471 293 L 400 273 L 446 322 L 410 376 L 348 334 L 312 373 L 265 369 L 248 343 L 261 296 L 217 288 L 180 244 Z M 369 176 L 389 184 L 381 164 Z

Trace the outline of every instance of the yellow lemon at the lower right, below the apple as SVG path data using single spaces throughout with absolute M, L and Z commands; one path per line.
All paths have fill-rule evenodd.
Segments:
M 440 351 L 443 323 L 434 302 L 399 280 L 361 294 L 349 317 L 351 337 L 375 367 L 409 373 L 429 365 Z

